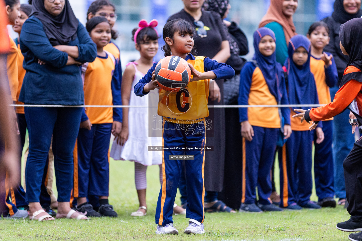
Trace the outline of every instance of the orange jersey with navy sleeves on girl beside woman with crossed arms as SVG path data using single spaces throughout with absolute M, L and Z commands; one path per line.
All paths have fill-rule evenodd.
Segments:
M 119 62 L 118 62 L 119 63 Z M 84 75 L 84 103 L 85 105 L 121 105 L 121 92 L 119 85 L 118 63 L 106 52 L 106 56 L 97 56 L 94 62 L 82 66 Z M 89 118 L 92 124 L 122 122 L 121 108 L 85 108 L 81 121 Z

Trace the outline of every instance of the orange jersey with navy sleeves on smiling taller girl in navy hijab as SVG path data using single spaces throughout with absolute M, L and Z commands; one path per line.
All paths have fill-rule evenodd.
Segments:
M 289 104 L 285 79 L 277 79 L 278 94 L 281 104 Z M 263 73 L 252 61 L 246 63 L 240 73 L 239 99 L 240 105 L 276 105 L 275 96 L 269 91 Z M 290 109 L 281 108 L 285 124 L 290 125 Z M 281 128 L 278 107 L 239 108 L 239 122 L 249 121 L 253 126 L 265 128 Z

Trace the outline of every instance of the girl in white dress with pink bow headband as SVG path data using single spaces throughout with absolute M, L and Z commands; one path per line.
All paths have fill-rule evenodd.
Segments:
M 122 78 L 122 103 L 131 106 L 148 106 L 148 96 L 136 96 L 133 88 L 153 66 L 153 57 L 158 50 L 158 34 L 155 30 L 157 20 L 147 23 L 141 20 L 139 28 L 132 31 L 132 39 L 140 58 L 126 65 Z M 158 91 L 152 90 L 150 95 Z M 149 165 L 159 165 L 162 183 L 162 155 L 159 151 L 148 151 L 148 146 L 162 146 L 161 137 L 152 137 L 148 132 L 148 108 L 123 108 L 122 131 L 113 142 L 110 156 L 114 160 L 130 160 L 135 163 L 135 184 L 139 208 L 131 216 L 145 216 L 146 205 L 146 170 Z

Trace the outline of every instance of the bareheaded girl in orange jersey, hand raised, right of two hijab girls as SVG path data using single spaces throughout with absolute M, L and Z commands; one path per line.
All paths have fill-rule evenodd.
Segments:
M 311 72 L 316 82 L 320 104 L 331 102 L 329 87 L 337 84 L 338 73 L 336 63 L 331 53 L 323 52 L 329 43 L 329 29 L 325 22 L 313 23 L 307 34 L 311 41 Z M 314 178 L 318 205 L 322 207 L 336 207 L 333 186 L 333 117 L 323 121 L 324 141 L 317 143 L 317 134 L 314 132 Z

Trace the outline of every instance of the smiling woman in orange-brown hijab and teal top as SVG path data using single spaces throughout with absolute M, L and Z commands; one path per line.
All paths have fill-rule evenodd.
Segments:
M 273 30 L 276 38 L 277 61 L 282 65 L 288 57 L 289 40 L 296 35 L 292 16 L 297 7 L 298 0 L 270 0 L 269 9 L 259 23 L 259 27 Z

